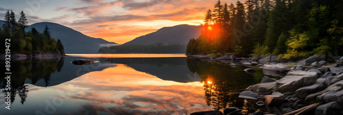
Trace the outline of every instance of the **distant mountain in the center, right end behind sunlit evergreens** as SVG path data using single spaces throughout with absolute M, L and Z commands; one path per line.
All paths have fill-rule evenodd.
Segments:
M 187 44 L 191 38 L 200 36 L 202 26 L 195 25 L 176 25 L 174 27 L 163 27 L 155 32 L 140 36 L 126 42 L 125 44 L 170 44 L 183 43 Z M 125 45 L 123 44 L 123 45 Z

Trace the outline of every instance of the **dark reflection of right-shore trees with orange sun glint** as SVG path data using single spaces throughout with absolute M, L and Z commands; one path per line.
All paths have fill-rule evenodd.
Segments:
M 256 84 L 255 77 L 247 74 L 244 66 L 235 68 L 220 62 L 201 62 L 187 60 L 187 66 L 192 73 L 198 73 L 204 81 L 204 99 L 207 105 L 213 105 L 213 110 L 225 107 L 239 107 L 252 110 L 255 103 L 239 99 L 239 93 L 248 86 Z

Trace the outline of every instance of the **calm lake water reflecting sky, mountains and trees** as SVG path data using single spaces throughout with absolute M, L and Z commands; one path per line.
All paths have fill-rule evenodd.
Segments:
M 99 60 L 75 66 L 80 58 Z M 1 62 L 1 66 L 4 62 Z M 0 78 L 0 115 L 9 114 L 191 114 L 239 107 L 264 107 L 238 94 L 257 84 L 261 69 L 197 62 L 185 55 L 71 55 L 47 60 L 12 61 L 12 105 L 5 109 Z

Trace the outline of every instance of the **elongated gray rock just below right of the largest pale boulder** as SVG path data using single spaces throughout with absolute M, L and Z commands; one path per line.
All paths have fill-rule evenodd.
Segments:
M 318 92 L 320 90 L 324 90 L 325 88 L 327 88 L 326 86 L 324 86 L 324 84 L 322 82 L 319 82 L 317 84 L 313 84 L 311 86 L 305 86 L 303 88 L 299 88 L 298 90 L 296 90 L 296 97 L 300 98 L 300 99 L 304 99 L 305 97 L 307 97 L 307 95 L 309 94 L 313 94 L 315 92 Z

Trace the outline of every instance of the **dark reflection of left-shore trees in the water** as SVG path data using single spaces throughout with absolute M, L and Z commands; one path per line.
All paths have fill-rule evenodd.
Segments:
M 49 80 L 51 73 L 55 73 L 56 70 L 60 70 L 64 63 L 64 57 L 57 57 L 49 60 L 16 60 L 11 62 L 11 90 L 5 90 L 7 79 L 0 78 L 0 82 L 3 84 L 3 92 L 10 92 L 11 101 L 14 102 L 16 94 L 21 97 L 21 103 L 25 103 L 27 92 L 29 92 L 25 80 L 31 80 L 32 84 L 40 79 L 45 81 L 45 86 L 49 86 Z M 1 62 L 5 64 L 5 62 Z

